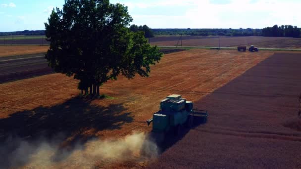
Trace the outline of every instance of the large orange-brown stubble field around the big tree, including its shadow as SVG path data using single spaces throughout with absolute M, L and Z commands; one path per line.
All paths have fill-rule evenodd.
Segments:
M 273 52 L 201 49 L 166 54 L 159 64 L 152 66 L 149 78 L 127 80 L 120 77 L 118 81 L 104 84 L 100 92 L 110 97 L 100 100 L 76 97 L 79 94 L 77 81 L 61 74 L 0 84 L 0 141 L 5 147 L 16 147 L 19 144 L 9 141 L 11 136 L 35 142 L 41 137 L 53 140 L 60 135 L 58 142 L 63 147 L 72 149 L 72 145 L 78 143 L 91 148 L 88 140 L 93 137 L 103 140 L 124 137 L 133 130 L 150 131 L 145 120 L 158 110 L 162 98 L 177 93 L 198 101 L 270 55 Z M 207 108 L 199 103 L 197 106 Z M 211 108 L 208 110 L 211 113 Z M 214 112 L 212 116 L 215 117 Z M 6 157 L 1 165 L 9 166 L 11 149 L 1 153 L 8 154 L 1 155 Z M 148 164 L 146 159 L 135 157 L 138 160 L 134 164 L 96 160 L 89 165 L 140 168 Z M 81 167 L 81 163 L 69 163 L 67 158 L 44 165 Z M 27 160 L 20 164 L 33 165 Z

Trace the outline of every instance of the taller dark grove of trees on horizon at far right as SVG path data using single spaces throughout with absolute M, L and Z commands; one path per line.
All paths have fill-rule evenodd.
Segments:
M 273 27 L 266 27 L 262 29 L 262 36 L 265 37 L 300 37 L 301 29 L 292 25 L 274 25 Z

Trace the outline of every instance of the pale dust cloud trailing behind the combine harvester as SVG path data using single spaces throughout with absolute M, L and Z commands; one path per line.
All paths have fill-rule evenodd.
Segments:
M 1 152 L 8 155 L 0 161 L 0 168 L 91 169 L 96 165 L 105 166 L 123 161 L 139 162 L 158 155 L 156 144 L 143 132 L 119 139 L 93 139 L 84 145 L 75 145 L 72 150 L 61 150 L 59 141 L 48 142 L 42 139 L 31 143 L 20 141 L 13 151 L 8 147 L 0 146 Z

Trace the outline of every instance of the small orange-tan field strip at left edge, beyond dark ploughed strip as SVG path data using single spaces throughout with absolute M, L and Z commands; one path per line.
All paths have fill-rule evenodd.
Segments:
M 24 55 L 24 54 L 33 54 L 33 53 L 43 53 L 47 52 L 49 46 L 31 46 L 31 45 L 8 45 L 0 46 L 0 57 L 3 56 L 13 56 L 13 55 Z

